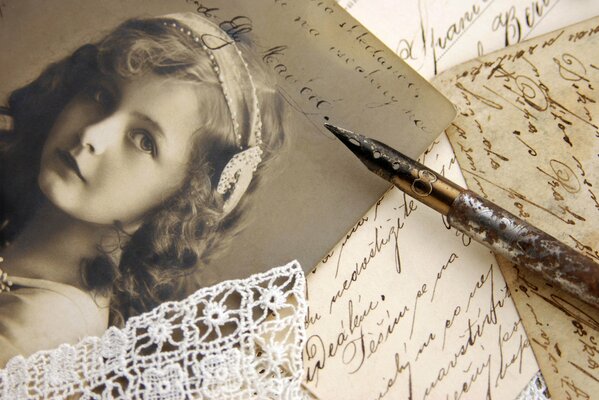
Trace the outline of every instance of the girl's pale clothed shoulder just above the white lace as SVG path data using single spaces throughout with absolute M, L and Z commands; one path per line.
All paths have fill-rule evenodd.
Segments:
M 13 290 L 0 294 L 0 365 L 62 343 L 100 336 L 108 326 L 108 303 L 76 287 L 11 277 Z

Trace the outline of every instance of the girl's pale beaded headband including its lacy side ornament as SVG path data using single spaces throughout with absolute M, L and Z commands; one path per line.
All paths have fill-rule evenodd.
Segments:
M 193 13 L 161 17 L 165 26 L 187 36 L 205 52 L 218 76 L 231 116 L 235 143 L 240 152 L 223 169 L 216 191 L 228 197 L 228 213 L 247 190 L 254 171 L 262 161 L 262 120 L 256 86 L 247 62 L 235 41 L 213 22 Z

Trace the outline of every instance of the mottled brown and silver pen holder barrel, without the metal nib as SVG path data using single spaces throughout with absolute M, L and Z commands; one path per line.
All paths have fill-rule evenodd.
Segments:
M 447 217 L 452 227 L 599 307 L 599 264 L 590 258 L 469 190 Z

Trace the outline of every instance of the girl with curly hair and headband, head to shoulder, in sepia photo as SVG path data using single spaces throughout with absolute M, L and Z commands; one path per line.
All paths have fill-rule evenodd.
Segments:
M 196 14 L 132 19 L 3 110 L 0 364 L 180 299 L 283 149 L 251 51 Z

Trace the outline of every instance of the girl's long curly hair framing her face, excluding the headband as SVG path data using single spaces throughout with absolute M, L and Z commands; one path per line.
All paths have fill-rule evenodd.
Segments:
M 237 45 L 249 64 L 261 103 L 264 153 L 248 191 L 231 213 L 223 215 L 223 196 L 215 187 L 224 165 L 239 150 L 211 61 L 184 33 L 157 19 L 134 19 L 100 42 L 84 45 L 49 65 L 10 95 L 7 109 L 14 125 L 0 138 L 0 160 L 9 167 L 0 172 L 0 244 L 7 245 L 18 235 L 42 201 L 37 176 L 43 144 L 58 114 L 86 85 L 102 76 L 134 79 L 147 73 L 196 82 L 210 95 L 199 96 L 205 121 L 195 135 L 183 187 L 149 212 L 132 235 L 115 223 L 120 238 L 118 262 L 109 250 L 99 247 L 98 255 L 82 260 L 81 267 L 87 288 L 110 296 L 112 325 L 183 296 L 185 277 L 226 247 L 242 228 L 248 194 L 285 142 L 282 98 L 248 46 Z

